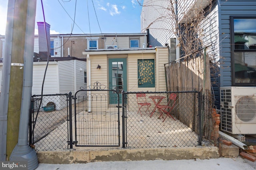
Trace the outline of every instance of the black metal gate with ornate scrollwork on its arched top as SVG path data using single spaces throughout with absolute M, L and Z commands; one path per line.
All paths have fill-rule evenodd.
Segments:
M 110 104 L 115 100 L 116 104 Z M 119 147 L 119 95 L 99 82 L 74 95 L 75 146 Z

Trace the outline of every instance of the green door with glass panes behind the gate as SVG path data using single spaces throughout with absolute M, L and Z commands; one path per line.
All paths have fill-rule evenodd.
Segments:
M 108 82 L 110 89 L 118 91 L 119 103 L 122 104 L 122 90 L 127 91 L 125 58 L 108 59 Z M 115 92 L 110 92 L 110 104 L 117 104 Z

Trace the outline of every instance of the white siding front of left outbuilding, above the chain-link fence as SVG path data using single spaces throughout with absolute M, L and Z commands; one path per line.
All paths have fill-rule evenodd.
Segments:
M 44 78 L 44 70 L 46 62 L 34 62 L 33 64 L 33 85 L 32 95 L 41 94 L 42 82 Z M 44 81 L 43 94 L 56 94 L 59 93 L 58 83 L 58 65 L 57 62 L 49 62 L 46 78 Z

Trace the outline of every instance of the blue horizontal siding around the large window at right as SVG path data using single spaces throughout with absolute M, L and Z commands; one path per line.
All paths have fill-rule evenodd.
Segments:
M 255 0 L 219 0 L 220 16 L 220 86 L 232 85 L 230 16 L 255 16 Z

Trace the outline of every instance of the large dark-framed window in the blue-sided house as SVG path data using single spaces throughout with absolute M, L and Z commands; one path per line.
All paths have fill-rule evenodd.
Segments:
M 256 85 L 256 16 L 231 17 L 232 84 Z

